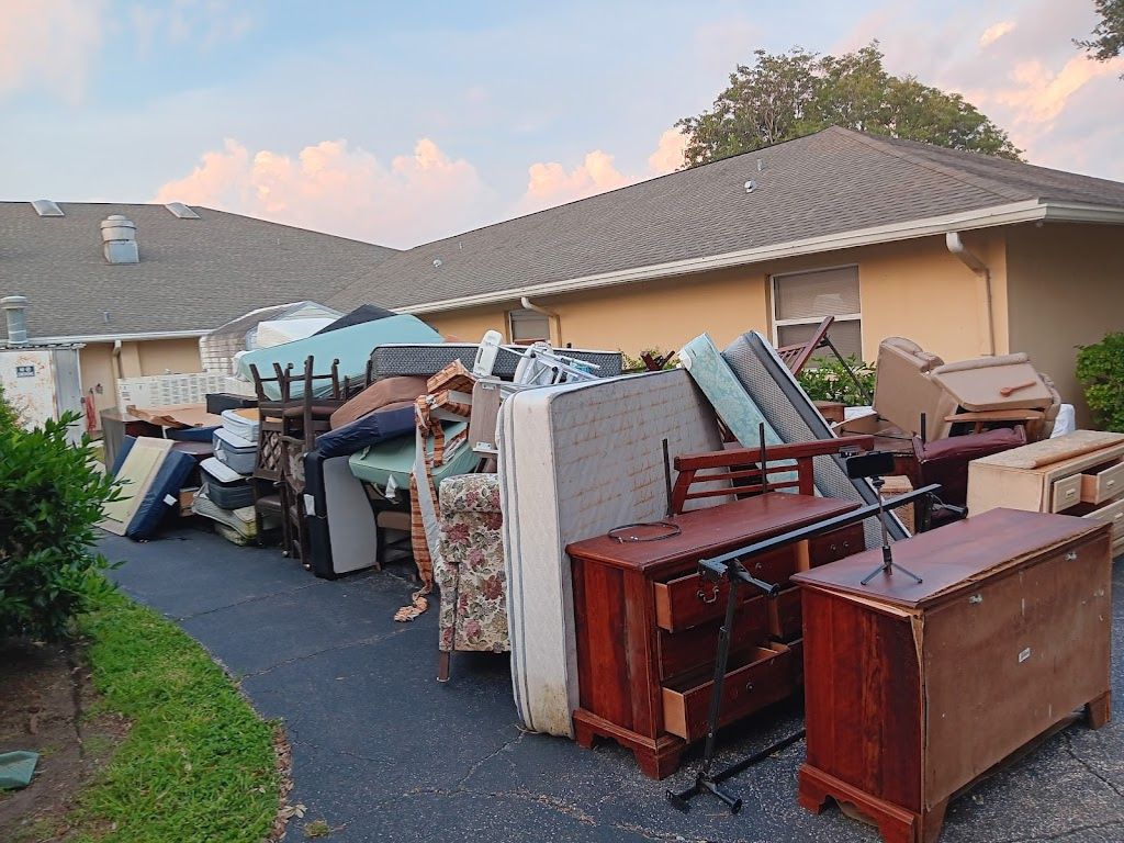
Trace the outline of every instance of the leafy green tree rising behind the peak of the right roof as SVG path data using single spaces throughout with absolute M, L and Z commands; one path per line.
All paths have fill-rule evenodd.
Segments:
M 878 42 L 841 56 L 800 47 L 777 55 L 758 49 L 754 56 L 752 65 L 731 74 L 714 108 L 676 123 L 688 136 L 687 166 L 828 126 L 1022 160 L 1007 133 L 959 93 L 887 73 Z

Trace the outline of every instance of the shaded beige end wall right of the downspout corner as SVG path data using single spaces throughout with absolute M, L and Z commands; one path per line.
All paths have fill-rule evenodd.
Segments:
M 1010 345 L 1048 372 L 1078 424 L 1090 422 L 1077 346 L 1124 330 L 1124 234 L 1115 226 L 1016 226 L 1007 243 Z

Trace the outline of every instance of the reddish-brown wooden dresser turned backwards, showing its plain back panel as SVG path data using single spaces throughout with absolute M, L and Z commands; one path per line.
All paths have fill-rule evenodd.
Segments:
M 950 797 L 1085 706 L 1109 716 L 1109 527 L 995 509 L 792 579 L 804 601 L 807 761 L 888 843 L 932 843 Z

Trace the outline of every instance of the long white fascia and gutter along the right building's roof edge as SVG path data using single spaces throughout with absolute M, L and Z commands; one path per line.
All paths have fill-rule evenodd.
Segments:
M 478 296 L 463 296 L 455 299 L 429 301 L 423 305 L 399 307 L 396 310 L 400 314 L 432 314 L 442 310 L 459 310 L 469 307 L 518 301 L 524 296 L 552 296 L 579 290 L 591 290 L 598 287 L 613 287 L 616 284 L 635 283 L 637 281 L 649 281 L 656 278 L 670 278 L 673 275 L 707 272 L 709 270 L 728 269 L 731 266 L 744 266 L 818 252 L 833 252 L 835 250 L 855 248 L 858 246 L 870 246 L 879 243 L 891 243 L 894 241 L 930 237 L 933 235 L 943 235 L 948 232 L 994 228 L 996 226 L 1035 223 L 1044 219 L 1124 224 L 1124 209 L 1093 205 L 1043 202 L 1037 199 L 1027 199 L 1019 202 L 948 214 L 940 217 L 913 219 L 886 226 L 828 234 L 822 237 L 776 243 L 720 255 L 691 257 L 685 261 L 650 264 L 647 266 L 584 275 L 564 281 L 516 287 L 496 292 L 480 293 Z

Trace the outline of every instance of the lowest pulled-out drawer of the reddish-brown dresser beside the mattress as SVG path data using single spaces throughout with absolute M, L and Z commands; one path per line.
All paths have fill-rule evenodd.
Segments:
M 794 688 L 792 651 L 783 644 L 754 647 L 731 659 L 722 689 L 719 726 L 783 699 Z M 662 687 L 663 728 L 685 741 L 706 734 L 714 676 L 692 673 Z

